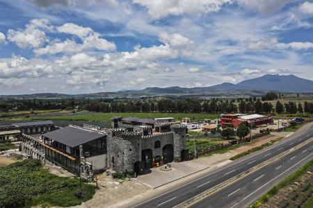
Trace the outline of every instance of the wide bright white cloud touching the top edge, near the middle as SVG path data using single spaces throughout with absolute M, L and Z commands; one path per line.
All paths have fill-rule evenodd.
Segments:
M 230 0 L 133 0 L 133 2 L 145 6 L 149 15 L 154 19 L 167 15 L 182 15 L 183 13 L 196 15 L 200 12 L 217 12 L 223 4 L 232 3 Z

